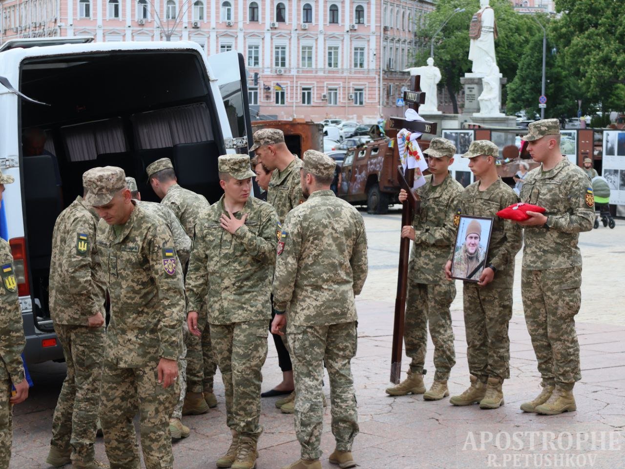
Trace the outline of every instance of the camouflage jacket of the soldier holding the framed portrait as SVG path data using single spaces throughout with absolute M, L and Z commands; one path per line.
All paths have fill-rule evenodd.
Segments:
M 497 269 L 489 284 L 492 288 L 512 288 L 514 256 L 519 252 L 522 244 L 521 227 L 511 220 L 497 217 L 496 214 L 508 205 L 516 204 L 518 200 L 514 190 L 503 182 L 501 177 L 497 177 L 497 180 L 486 190 L 479 190 L 479 181 L 474 182 L 468 185 L 459 197 L 457 214 L 493 219 L 491 240 L 484 265 L 486 267 L 492 264 Z M 452 245 L 451 255 L 454 255 L 454 245 Z

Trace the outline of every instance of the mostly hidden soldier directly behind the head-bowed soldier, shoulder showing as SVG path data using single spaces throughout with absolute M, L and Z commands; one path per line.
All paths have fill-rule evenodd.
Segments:
M 169 207 L 156 202 L 142 202 L 141 193 L 137 187 L 137 181 L 134 177 L 126 177 L 126 186 L 130 190 L 130 195 L 137 205 L 140 205 L 148 214 L 154 215 L 162 219 L 174 238 L 174 249 L 176 249 L 176 257 L 179 261 L 178 265 L 186 265 L 189 261 L 189 251 L 191 250 L 191 239 L 184 231 L 183 225 L 174 215 Z M 186 338 L 189 330 L 187 322 L 183 322 L 183 335 Z M 187 391 L 187 347 L 184 345 L 178 360 L 178 383 L 180 384 L 180 398 L 174 408 L 174 413 L 169 419 L 169 433 L 174 439 L 186 438 L 191 434 L 189 427 L 183 425 L 183 405 L 184 396 Z

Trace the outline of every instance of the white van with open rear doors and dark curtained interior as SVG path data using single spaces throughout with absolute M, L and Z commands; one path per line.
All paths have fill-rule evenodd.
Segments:
M 62 360 L 48 309 L 52 231 L 82 195 L 83 172 L 122 167 L 143 199 L 158 200 L 145 169 L 169 157 L 183 187 L 215 202 L 217 157 L 251 145 L 244 61 L 237 52 L 206 60 L 194 42 L 19 39 L 0 46 L 0 77 L 0 167 L 15 178 L 0 234 L 18 274 L 24 355 Z M 47 137 L 39 154 L 22 147 L 32 129 Z

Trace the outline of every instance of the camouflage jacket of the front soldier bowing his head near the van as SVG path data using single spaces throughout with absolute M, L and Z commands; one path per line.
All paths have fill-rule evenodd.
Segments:
M 177 360 L 183 339 L 183 272 L 163 220 L 134 210 L 115 234 L 98 224 L 98 253 L 111 298 L 106 359 L 120 368 Z

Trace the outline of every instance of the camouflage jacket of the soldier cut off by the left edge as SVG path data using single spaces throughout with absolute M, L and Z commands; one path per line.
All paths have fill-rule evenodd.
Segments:
M 24 379 L 24 366 L 20 355 L 24 350 L 26 340 L 24 340 L 24 328 L 22 326 L 22 310 L 17 299 L 17 283 L 11 247 L 4 239 L 0 239 L 0 263 L 2 267 L 2 286 L 0 287 L 0 358 L 2 359 L 2 370 L 0 371 L 0 380 L 9 378 L 13 384 L 17 384 Z

